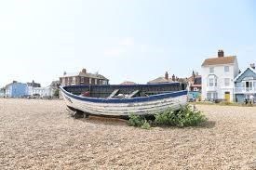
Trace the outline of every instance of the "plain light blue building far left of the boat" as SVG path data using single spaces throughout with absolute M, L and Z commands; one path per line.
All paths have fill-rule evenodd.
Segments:
M 27 84 L 13 81 L 11 84 L 6 85 L 6 96 L 9 98 L 20 98 L 27 95 L 27 92 Z

